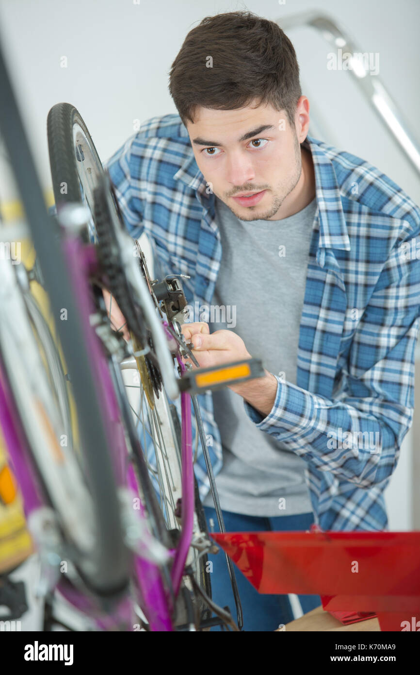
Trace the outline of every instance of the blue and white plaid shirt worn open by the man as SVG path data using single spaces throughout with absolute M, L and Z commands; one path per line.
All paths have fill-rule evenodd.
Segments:
M 305 460 L 322 529 L 386 530 L 383 492 L 413 416 L 420 209 L 363 159 L 309 136 L 303 145 L 313 159 L 318 207 L 297 385 L 276 376 L 276 400 L 266 416 L 244 406 L 258 429 Z M 222 255 L 214 194 L 180 117 L 146 121 L 107 169 L 129 234 L 146 232 L 164 273 L 189 275 L 183 279 L 187 302 L 210 306 Z M 280 299 L 281 289 L 277 297 L 261 298 Z M 222 446 L 211 392 L 199 402 L 217 475 Z M 204 497 L 202 453 L 195 470 Z

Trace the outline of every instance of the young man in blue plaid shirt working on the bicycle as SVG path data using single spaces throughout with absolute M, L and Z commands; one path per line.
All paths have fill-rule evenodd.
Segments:
M 384 530 L 413 412 L 420 210 L 307 136 L 295 50 L 273 22 L 204 19 L 169 88 L 179 115 L 146 121 L 107 167 L 131 236 L 190 277 L 183 333 L 200 366 L 256 356 L 266 369 L 200 396 L 227 531 Z M 196 475 L 216 522 L 202 456 Z M 223 558 L 214 599 L 233 611 Z M 237 576 L 245 630 L 293 618 L 287 597 Z

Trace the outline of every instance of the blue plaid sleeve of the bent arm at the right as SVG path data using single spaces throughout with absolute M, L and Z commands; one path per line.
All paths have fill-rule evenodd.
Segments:
M 385 481 L 413 420 L 419 300 L 420 260 L 396 246 L 353 335 L 338 398 L 275 375 L 272 409 L 264 417 L 244 400 L 248 416 L 318 470 L 360 487 Z

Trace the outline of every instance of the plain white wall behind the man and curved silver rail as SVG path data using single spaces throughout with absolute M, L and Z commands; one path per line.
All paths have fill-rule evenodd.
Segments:
M 188 30 L 204 16 L 249 9 L 277 20 L 317 8 L 339 20 L 361 51 L 379 53 L 379 77 L 420 136 L 418 0 L 0 0 L 0 34 L 44 188 L 51 187 L 46 123 L 55 103 L 79 109 L 105 161 L 133 134 L 134 119 L 176 112 L 168 73 Z M 419 178 L 349 73 L 327 70 L 331 48 L 309 29 L 291 30 L 289 37 L 303 93 L 320 113 L 322 140 L 377 165 L 420 202 Z M 60 67 L 63 56 L 67 68 Z M 11 196 L 0 159 L 0 197 Z M 411 445 L 407 439 L 387 492 L 393 529 L 411 527 Z

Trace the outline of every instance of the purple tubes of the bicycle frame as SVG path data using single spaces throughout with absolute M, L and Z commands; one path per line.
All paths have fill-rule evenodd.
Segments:
M 131 464 L 126 466 L 127 448 L 125 444 L 125 434 L 121 423 L 121 413 L 119 410 L 115 391 L 111 380 L 111 373 L 107 364 L 107 359 L 102 351 L 100 340 L 94 329 L 90 327 L 89 317 L 94 311 L 88 278 L 98 269 L 96 251 L 93 244 L 87 246 L 82 244 L 77 238 L 66 237 L 63 242 L 65 259 L 71 276 L 73 291 L 78 303 L 78 310 L 82 323 L 86 329 L 86 347 L 90 354 L 90 359 L 94 371 L 98 376 L 98 396 L 100 396 L 103 421 L 110 439 L 113 456 L 113 468 L 115 471 L 115 480 L 117 485 L 129 487 L 136 496 L 142 501 L 138 494 L 136 477 Z M 177 360 L 181 371 L 185 371 L 179 354 Z M 181 536 L 178 546 L 173 553 L 173 565 L 171 568 L 171 583 L 175 596 L 179 592 L 183 570 L 189 546 L 191 544 L 193 532 L 193 513 L 194 513 L 194 482 L 193 482 L 193 453 L 191 442 L 191 397 L 187 392 L 181 393 L 181 418 L 182 418 L 182 437 L 181 437 L 181 485 L 182 485 L 182 510 L 181 510 Z M 22 425 L 16 404 L 9 389 L 7 377 L 3 362 L 0 358 L 0 425 L 3 429 L 7 452 L 11 459 L 16 479 L 22 492 L 24 511 L 26 517 L 40 508 L 42 504 L 47 503 L 47 499 L 42 490 L 42 481 L 39 478 L 36 464 L 32 458 L 26 436 L 22 433 Z M 144 506 L 138 512 L 140 518 L 145 518 Z M 162 574 L 160 568 L 140 556 L 134 556 L 134 569 L 136 571 L 136 581 L 140 589 L 142 600 L 141 606 L 146 618 L 148 618 L 151 631 L 171 631 L 173 624 L 171 614 L 173 607 L 164 589 Z M 115 625 L 133 625 L 133 605 L 129 595 L 119 601 L 117 607 L 111 615 L 102 616 L 94 599 L 84 595 L 81 591 L 71 586 L 66 580 L 59 581 L 57 590 L 81 612 L 84 612 L 92 618 L 99 630 L 109 630 L 115 628 Z

